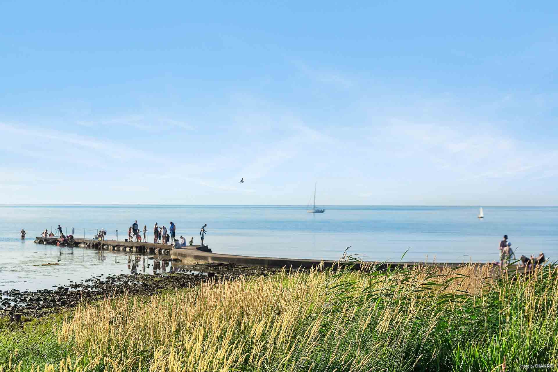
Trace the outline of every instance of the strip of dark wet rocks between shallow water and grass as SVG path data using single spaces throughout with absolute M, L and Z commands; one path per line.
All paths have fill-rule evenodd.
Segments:
M 83 301 L 96 301 L 105 296 L 133 294 L 150 296 L 165 289 L 189 288 L 213 279 L 234 279 L 240 276 L 268 276 L 278 271 L 225 263 L 205 263 L 181 267 L 172 274 L 103 275 L 38 291 L 4 291 L 0 299 L 0 317 L 25 322 L 75 307 Z

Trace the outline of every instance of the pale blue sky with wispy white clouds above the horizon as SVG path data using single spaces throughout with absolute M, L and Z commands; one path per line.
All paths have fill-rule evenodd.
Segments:
M 3 2 L 0 204 L 558 205 L 556 19 Z

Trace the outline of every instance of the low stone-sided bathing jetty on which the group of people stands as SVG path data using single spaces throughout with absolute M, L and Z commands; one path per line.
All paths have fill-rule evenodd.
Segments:
M 42 236 L 38 236 L 35 239 L 36 244 L 57 245 L 58 242 L 58 238 L 44 238 Z M 102 249 L 114 252 L 133 252 L 162 255 L 170 255 L 172 249 L 170 245 L 143 243 L 139 241 L 97 240 L 81 238 L 74 238 L 73 243 L 65 244 L 64 246 Z M 189 247 L 184 247 L 184 249 L 195 250 L 196 252 L 211 252 L 211 249 L 209 249 L 207 245 L 192 245 Z

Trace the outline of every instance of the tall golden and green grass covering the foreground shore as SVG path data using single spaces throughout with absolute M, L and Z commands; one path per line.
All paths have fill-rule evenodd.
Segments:
M 19 334 L 1 323 L 0 346 L 6 350 L 0 351 L 0 368 L 556 369 L 556 268 L 499 278 L 492 270 L 476 265 L 282 272 L 148 298 L 109 298 L 37 322 L 39 328 L 27 325 Z

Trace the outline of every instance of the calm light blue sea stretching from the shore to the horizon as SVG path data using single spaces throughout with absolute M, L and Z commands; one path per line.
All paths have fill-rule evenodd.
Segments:
M 517 257 L 544 252 L 551 261 L 558 258 L 558 207 L 483 206 L 484 219 L 477 218 L 479 206 L 320 207 L 323 214 L 296 205 L 0 205 L 0 291 L 173 270 L 155 265 L 160 258 L 152 255 L 33 243 L 59 224 L 78 238 L 105 229 L 107 239 L 123 240 L 137 220 L 153 241 L 153 225 L 168 228 L 172 221 L 177 236 L 193 237 L 195 244 L 207 224 L 204 243 L 214 253 L 339 259 L 348 248 L 364 260 L 397 262 L 493 262 L 506 234 Z

